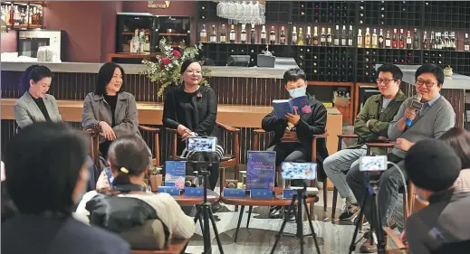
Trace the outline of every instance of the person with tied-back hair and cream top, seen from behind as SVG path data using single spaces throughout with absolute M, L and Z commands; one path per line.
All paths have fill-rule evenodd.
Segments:
M 119 233 L 142 224 L 136 221 L 159 220 L 168 229 L 167 238 L 191 238 L 195 223 L 181 210 L 175 199 L 168 193 L 150 193 L 145 187 L 144 177 L 149 171 L 149 164 L 144 140 L 134 135 L 120 136 L 112 142 L 108 153 L 108 165 L 114 177 L 112 185 L 119 192 L 110 193 L 107 188 L 85 193 L 75 215 L 84 222 Z M 121 200 L 103 199 L 100 193 L 120 197 Z M 129 216 L 132 217 L 129 219 Z M 156 234 L 163 233 L 163 230 L 154 231 Z M 142 232 L 140 237 L 149 236 Z

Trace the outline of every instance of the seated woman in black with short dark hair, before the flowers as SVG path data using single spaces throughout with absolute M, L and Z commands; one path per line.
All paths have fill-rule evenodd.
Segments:
M 189 59 L 181 65 L 183 84 L 168 92 L 163 108 L 163 126 L 176 129 L 177 155 L 186 155 L 186 140 L 191 136 L 218 136 L 216 126 L 217 97 L 213 89 L 200 86 L 202 68 L 197 60 Z M 185 152 L 185 153 L 184 153 Z M 217 146 L 218 161 L 224 155 L 223 149 Z M 197 159 L 192 157 L 193 160 Z M 209 167 L 210 188 L 214 190 L 218 179 L 218 165 Z M 187 166 L 187 172 L 189 172 Z M 190 172 L 192 174 L 192 172 Z

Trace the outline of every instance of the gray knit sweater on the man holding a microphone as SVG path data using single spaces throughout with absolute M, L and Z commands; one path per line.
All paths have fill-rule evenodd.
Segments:
M 398 130 L 398 120 L 405 115 L 405 109 L 408 107 L 409 100 L 411 99 L 413 98 L 408 98 L 403 102 L 398 109 L 397 115 L 390 122 L 388 126 L 388 138 L 390 140 L 397 140 L 398 137 L 401 137 L 416 143 L 426 138 L 437 138 L 456 125 L 456 112 L 454 112 L 454 108 L 452 108 L 447 99 L 441 96 L 435 103 L 428 106 L 429 108 L 427 108 L 423 116 L 417 114 L 417 118 L 413 120 L 413 124 L 407 130 Z M 394 146 L 392 154 L 405 158 L 407 152 Z

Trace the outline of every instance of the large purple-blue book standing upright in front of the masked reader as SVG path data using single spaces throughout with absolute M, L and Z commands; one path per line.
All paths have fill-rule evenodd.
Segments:
M 246 189 L 274 190 L 276 153 L 248 151 L 246 162 Z

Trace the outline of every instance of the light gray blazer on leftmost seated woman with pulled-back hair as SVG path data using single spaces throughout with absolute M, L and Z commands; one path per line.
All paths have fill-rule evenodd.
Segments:
M 59 113 L 59 108 L 57 107 L 57 100 L 55 100 L 52 95 L 46 94 L 43 101 L 51 121 L 61 122 L 62 117 L 61 113 Z M 16 123 L 20 128 L 27 127 L 34 122 L 45 122 L 43 112 L 41 112 L 41 109 L 37 107 L 34 99 L 27 91 L 14 103 L 13 113 L 14 120 L 16 120 Z

